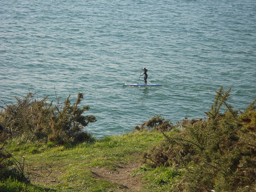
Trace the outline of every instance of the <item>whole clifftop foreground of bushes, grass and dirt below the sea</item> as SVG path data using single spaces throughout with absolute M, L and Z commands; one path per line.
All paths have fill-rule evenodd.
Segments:
M 2 106 L 0 191 L 253 192 L 256 100 L 238 111 L 229 98 L 221 87 L 204 119 L 172 124 L 155 115 L 96 139 L 83 131 L 96 118 L 78 107 L 82 94 L 53 105 L 28 93 Z

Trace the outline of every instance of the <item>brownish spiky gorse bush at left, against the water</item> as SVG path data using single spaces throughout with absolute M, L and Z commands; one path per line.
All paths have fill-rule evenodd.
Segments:
M 53 105 L 53 101 L 47 102 L 48 96 L 38 99 L 30 92 L 25 98 L 16 97 L 17 105 L 2 107 L 1 133 L 9 137 L 23 136 L 30 140 L 57 144 L 90 139 L 90 134 L 84 132 L 83 128 L 95 122 L 96 118 L 83 115 L 90 109 L 89 106 L 78 107 L 83 99 L 82 93 L 78 93 L 74 104 L 70 103 L 69 97 L 64 102 L 58 98 L 56 105 Z

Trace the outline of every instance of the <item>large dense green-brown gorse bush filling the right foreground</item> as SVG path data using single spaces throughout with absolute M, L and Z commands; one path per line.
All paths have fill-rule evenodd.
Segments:
M 144 162 L 152 167 L 181 170 L 175 190 L 256 190 L 256 100 L 238 115 L 227 103 L 229 93 L 221 87 L 205 112 L 207 120 L 185 124 L 172 136 L 163 132 L 166 140 L 144 154 Z

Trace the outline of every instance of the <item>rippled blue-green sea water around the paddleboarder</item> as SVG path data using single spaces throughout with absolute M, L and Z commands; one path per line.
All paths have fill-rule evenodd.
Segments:
M 0 0 L 0 105 L 84 93 L 96 137 L 162 114 L 204 118 L 215 91 L 256 98 L 255 0 Z M 161 87 L 123 87 L 148 81 Z M 140 78 L 143 83 L 143 76 Z

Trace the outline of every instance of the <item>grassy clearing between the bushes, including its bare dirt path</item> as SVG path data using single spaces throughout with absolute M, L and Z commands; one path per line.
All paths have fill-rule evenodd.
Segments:
M 35 186 L 29 191 L 148 192 L 164 191 L 170 179 L 166 168 L 155 170 L 142 164 L 144 152 L 163 139 L 159 132 L 143 131 L 73 147 L 22 142 L 21 138 L 9 141 L 6 147 L 16 159 L 25 158 L 28 170 L 42 167 L 52 171 L 50 176 L 33 181 Z M 163 186 L 162 180 L 166 180 Z

